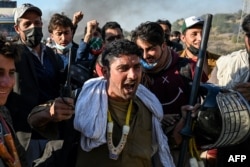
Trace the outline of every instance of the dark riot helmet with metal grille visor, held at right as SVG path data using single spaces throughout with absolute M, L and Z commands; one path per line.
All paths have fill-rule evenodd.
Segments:
M 223 90 L 212 84 L 204 85 L 207 95 L 195 127 L 201 148 L 212 149 L 243 142 L 250 135 L 248 102 L 239 92 Z

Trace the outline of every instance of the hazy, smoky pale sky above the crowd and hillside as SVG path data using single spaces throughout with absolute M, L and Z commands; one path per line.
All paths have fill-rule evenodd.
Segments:
M 127 31 L 145 21 L 174 22 L 192 15 L 235 13 L 243 6 L 243 0 L 17 0 L 17 5 L 27 2 L 42 9 L 45 25 L 53 13 L 64 12 L 71 18 L 74 12 L 83 11 L 82 26 L 92 19 L 98 20 L 100 26 L 117 21 Z

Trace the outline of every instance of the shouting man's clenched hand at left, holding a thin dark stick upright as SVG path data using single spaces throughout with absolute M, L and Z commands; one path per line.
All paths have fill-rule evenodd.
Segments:
M 56 98 L 50 107 L 50 116 L 54 122 L 68 120 L 74 114 L 74 99 L 68 97 L 63 99 L 60 97 Z

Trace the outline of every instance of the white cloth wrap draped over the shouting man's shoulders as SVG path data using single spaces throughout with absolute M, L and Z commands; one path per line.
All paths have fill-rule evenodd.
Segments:
M 153 154 L 159 154 L 163 166 L 172 167 L 168 139 L 164 135 L 160 121 L 163 118 L 161 103 L 156 96 L 143 85 L 139 85 L 136 95 L 153 113 L 152 148 Z M 74 127 L 81 132 L 81 148 L 91 151 L 106 143 L 108 96 L 106 80 L 103 77 L 93 78 L 85 82 L 75 105 Z

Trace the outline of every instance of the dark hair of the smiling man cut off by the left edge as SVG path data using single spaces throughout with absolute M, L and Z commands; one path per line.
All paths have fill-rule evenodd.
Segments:
M 20 60 L 20 47 L 17 44 L 7 41 L 4 37 L 0 37 L 0 54 L 14 61 Z

